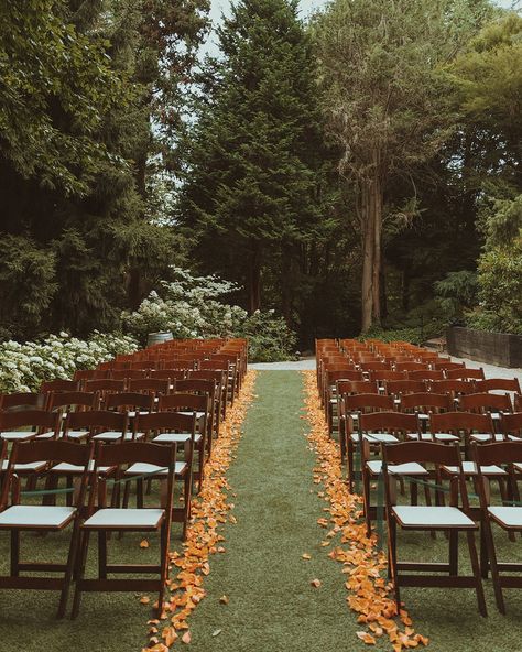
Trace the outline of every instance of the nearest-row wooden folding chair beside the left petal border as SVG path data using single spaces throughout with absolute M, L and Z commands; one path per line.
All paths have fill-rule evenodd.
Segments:
M 146 419 L 145 415 L 143 419 Z M 78 448 L 81 448 L 78 446 Z M 96 448 L 95 474 L 101 486 L 107 479 L 97 474 L 99 467 L 117 467 L 117 478 L 124 479 L 127 467 L 139 466 L 164 469 L 166 491 L 162 491 L 162 504 L 157 508 L 107 508 L 106 491 L 100 490 L 99 509 L 95 511 L 95 492 L 89 501 L 89 517 L 81 525 L 80 553 L 76 562 L 76 590 L 73 601 L 73 618 L 79 611 L 84 591 L 157 591 L 157 612 L 163 611 L 165 583 L 168 578 L 168 544 L 173 512 L 174 469 L 177 448 L 159 446 L 148 442 L 123 442 L 118 446 L 98 444 Z M 111 532 L 159 532 L 161 539 L 159 564 L 109 564 L 107 561 L 107 539 Z M 89 537 L 98 535 L 98 577 L 86 578 Z M 109 578 L 109 574 L 154 574 L 157 578 Z

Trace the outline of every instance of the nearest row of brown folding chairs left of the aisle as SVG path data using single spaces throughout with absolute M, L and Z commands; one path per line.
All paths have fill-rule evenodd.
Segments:
M 6 456 L 6 445 L 2 450 Z M 17 467 L 41 459 L 56 465 L 80 468 L 79 485 L 75 488 L 72 504 L 24 504 L 18 482 Z M 11 533 L 10 574 L 0 577 L 0 588 L 43 589 L 59 591 L 58 617 L 66 610 L 73 578 L 76 580 L 73 616 L 77 616 L 81 594 L 85 591 L 156 591 L 161 613 L 165 583 L 168 578 L 168 542 L 174 514 L 174 479 L 176 476 L 177 447 L 159 444 L 123 443 L 118 446 L 102 444 L 77 446 L 66 441 L 39 441 L 17 443 L 10 456 L 3 482 L 0 512 L 0 530 Z M 183 464 L 183 463 L 182 463 Z M 112 482 L 119 482 L 135 474 L 132 468 L 148 465 L 162 469 L 162 503 L 155 508 L 107 507 L 106 486 L 109 482 L 104 469 L 112 468 Z M 100 490 L 101 486 L 101 490 Z M 88 495 L 88 503 L 86 498 Z M 13 497 L 10 502 L 10 497 Z M 96 499 L 99 499 L 97 504 Z M 61 532 L 68 529 L 70 542 L 64 563 L 45 563 L 20 559 L 22 532 Z M 155 565 L 109 564 L 107 539 L 111 532 L 146 532 L 160 535 L 160 559 Z M 85 577 L 85 566 L 91 534 L 98 535 L 98 577 Z M 45 576 L 34 573 L 45 573 Z M 29 575 L 32 573 L 32 575 Z M 109 578 L 118 574 L 119 578 Z M 146 578 L 121 578 L 122 574 L 149 575 Z M 156 575 L 150 578 L 150 574 Z M 57 575 L 57 576 L 56 576 Z

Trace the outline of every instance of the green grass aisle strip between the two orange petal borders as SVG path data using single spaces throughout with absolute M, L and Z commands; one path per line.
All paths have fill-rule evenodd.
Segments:
M 316 521 L 325 503 L 317 498 L 314 455 L 303 437 L 302 389 L 296 371 L 259 374 L 259 398 L 229 474 L 238 522 L 227 525 L 227 552 L 211 559 L 208 598 L 189 619 L 194 652 L 359 646 L 340 567 L 320 547 L 324 531 Z M 320 588 L 311 586 L 314 578 Z M 228 605 L 219 602 L 224 595 Z

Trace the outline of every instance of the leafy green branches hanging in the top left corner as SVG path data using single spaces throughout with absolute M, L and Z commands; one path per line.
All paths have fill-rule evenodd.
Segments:
M 111 69 L 104 39 L 79 33 L 66 15 L 65 0 L 2 3 L 0 142 L 23 177 L 85 194 L 108 159 L 93 134 L 128 90 Z

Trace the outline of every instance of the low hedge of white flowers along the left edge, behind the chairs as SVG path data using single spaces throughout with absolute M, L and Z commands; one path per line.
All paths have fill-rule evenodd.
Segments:
M 37 391 L 44 380 L 73 378 L 76 369 L 90 369 L 117 354 L 138 350 L 134 338 L 95 332 L 86 341 L 67 333 L 41 341 L 0 343 L 0 392 Z

